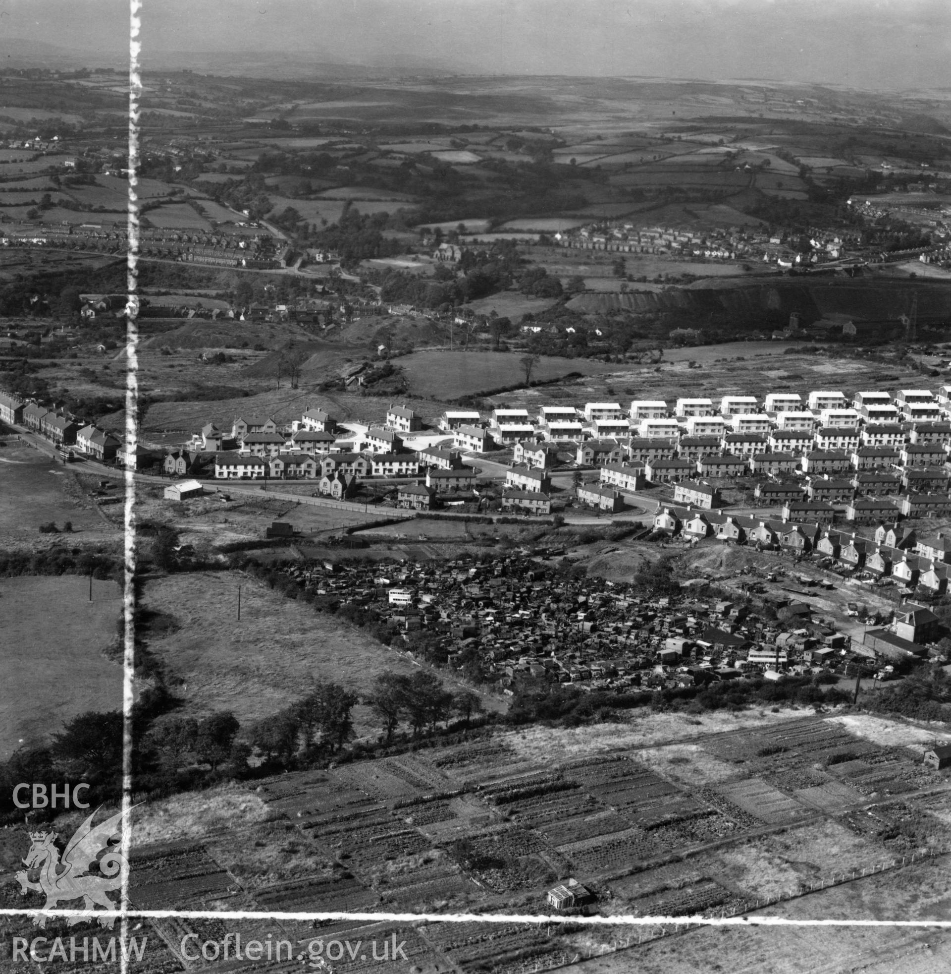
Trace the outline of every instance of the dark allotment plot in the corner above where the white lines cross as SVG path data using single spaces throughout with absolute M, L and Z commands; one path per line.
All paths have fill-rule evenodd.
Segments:
M 238 883 L 201 843 L 140 846 L 129 857 L 128 895 L 142 910 L 166 910 L 227 894 Z

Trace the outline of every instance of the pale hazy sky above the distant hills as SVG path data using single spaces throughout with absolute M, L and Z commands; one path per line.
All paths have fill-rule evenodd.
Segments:
M 11 62 L 29 44 L 121 59 L 128 4 L 0 0 L 3 39 Z M 144 0 L 141 40 L 146 68 L 283 55 L 457 74 L 951 86 L 945 0 Z

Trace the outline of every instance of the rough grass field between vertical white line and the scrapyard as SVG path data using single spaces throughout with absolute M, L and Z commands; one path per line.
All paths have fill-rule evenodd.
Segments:
M 360 630 L 245 576 L 215 572 L 149 581 L 143 604 L 178 620 L 178 631 L 152 641 L 150 650 L 183 681 L 176 690 L 183 714 L 232 710 L 246 723 L 286 707 L 313 680 L 367 693 L 384 669 L 416 668 Z M 377 733 L 369 708 L 356 707 L 354 718 L 358 734 Z

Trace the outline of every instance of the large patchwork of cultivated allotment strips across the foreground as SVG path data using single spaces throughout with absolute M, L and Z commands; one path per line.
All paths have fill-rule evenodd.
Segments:
M 898 888 L 930 852 L 937 857 L 925 861 L 943 869 L 951 835 L 945 779 L 922 766 L 920 747 L 883 746 L 856 731 L 818 715 L 764 720 L 701 735 L 689 748 L 653 742 L 644 761 L 635 746 L 561 762 L 528 756 L 515 746 L 519 731 L 506 731 L 282 774 L 244 793 L 260 809 L 254 821 L 137 846 L 129 895 L 150 909 L 546 916 L 546 891 L 573 878 L 595 892 L 594 911 L 646 918 L 783 915 L 843 881 L 872 896 L 890 888 L 890 875 Z M 683 773 L 708 761 L 715 773 Z M 175 801 L 144 812 L 162 816 L 165 836 Z M 874 905 L 852 916 L 862 909 Z M 186 918 L 160 925 L 166 944 L 237 929 Z M 659 932 L 279 917 L 241 928 L 242 938 L 273 933 L 305 953 L 318 939 L 380 945 L 395 932 L 423 970 L 513 974 L 580 962 L 604 944 L 637 949 L 639 937 L 646 944 Z M 371 962 L 344 955 L 334 966 Z

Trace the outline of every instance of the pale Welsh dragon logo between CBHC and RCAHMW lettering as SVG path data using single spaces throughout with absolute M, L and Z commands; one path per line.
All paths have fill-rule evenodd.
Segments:
M 55 910 L 60 900 L 69 902 L 82 899 L 85 904 L 86 909 L 81 916 L 66 918 L 69 926 L 94 918 L 96 906 L 106 910 L 117 909 L 117 905 L 106 894 L 122 887 L 128 877 L 128 862 L 120 846 L 109 843 L 115 837 L 122 836 L 123 816 L 119 812 L 96 826 L 92 825 L 94 817 L 95 811 L 76 830 L 62 856 L 55 845 L 55 832 L 29 834 L 33 844 L 30 845 L 26 858 L 22 860 L 26 869 L 21 869 L 16 879 L 24 896 L 30 889 L 46 894 L 47 901 L 40 913 L 33 918 L 34 925 L 45 928 L 49 911 Z M 105 854 L 96 859 L 103 850 Z M 96 873 L 90 872 L 93 866 L 97 868 Z M 29 874 L 35 871 L 39 871 L 38 881 L 29 879 Z M 111 929 L 116 918 L 99 917 L 98 920 L 100 926 Z

